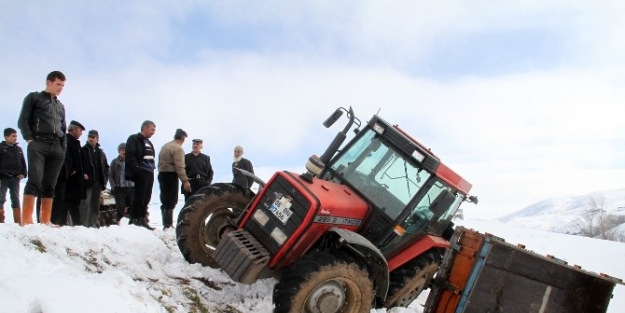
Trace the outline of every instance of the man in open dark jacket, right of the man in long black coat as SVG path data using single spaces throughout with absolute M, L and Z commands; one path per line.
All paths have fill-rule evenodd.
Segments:
M 100 217 L 100 194 L 109 181 L 109 163 L 100 148 L 100 135 L 90 130 L 87 144 L 82 147 L 82 164 L 85 169 L 87 198 L 80 205 L 80 218 L 85 227 L 98 227 Z

